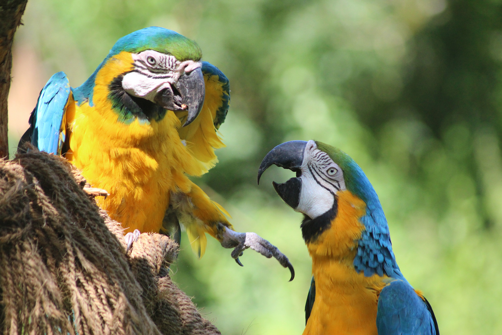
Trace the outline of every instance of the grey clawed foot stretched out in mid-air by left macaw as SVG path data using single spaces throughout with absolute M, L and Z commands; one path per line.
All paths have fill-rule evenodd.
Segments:
M 288 257 L 280 252 L 276 246 L 255 233 L 237 233 L 226 228 L 221 240 L 221 246 L 223 248 L 234 248 L 232 258 L 240 266 L 243 265 L 239 261 L 239 256 L 242 256 L 244 250 L 247 248 L 251 248 L 267 258 L 274 256 L 283 267 L 288 268 L 291 272 L 291 279 L 289 281 L 295 278 L 295 269 L 293 269 L 293 265 L 289 262 Z

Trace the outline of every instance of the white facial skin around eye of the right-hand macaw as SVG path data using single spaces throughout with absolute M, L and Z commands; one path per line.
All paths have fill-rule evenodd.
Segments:
M 295 210 L 316 218 L 333 207 L 337 192 L 345 190 L 343 171 L 312 140 L 305 147 L 301 170 L 302 189 Z

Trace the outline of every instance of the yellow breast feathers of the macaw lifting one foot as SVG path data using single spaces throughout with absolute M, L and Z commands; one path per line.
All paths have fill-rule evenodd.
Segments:
M 186 175 L 199 176 L 207 166 L 182 143 L 181 123 L 172 111 L 158 122 L 118 121 L 108 99 L 109 85 L 132 64 L 131 54 L 121 52 L 99 70 L 94 106 L 84 102 L 75 108 L 68 158 L 94 187 L 110 193 L 98 204 L 126 232 L 159 232 L 170 191 L 188 193 Z

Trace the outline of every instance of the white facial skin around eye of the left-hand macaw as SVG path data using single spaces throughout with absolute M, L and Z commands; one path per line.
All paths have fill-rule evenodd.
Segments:
M 135 70 L 124 75 L 122 87 L 129 94 L 154 101 L 155 95 L 178 81 L 185 73 L 202 67 L 201 62 L 180 62 L 154 50 L 133 54 Z

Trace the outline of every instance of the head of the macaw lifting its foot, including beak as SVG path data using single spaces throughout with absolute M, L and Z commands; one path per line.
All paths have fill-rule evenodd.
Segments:
M 106 98 L 114 108 L 127 109 L 129 114 L 152 108 L 187 110 L 186 126 L 204 103 L 201 58 L 197 43 L 183 35 L 160 27 L 144 28 L 120 38 L 74 95 L 79 103 L 93 105 L 96 82 L 105 73 L 110 78 L 105 83 L 109 86 Z M 119 66 L 117 60 L 128 64 Z

